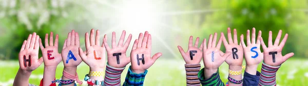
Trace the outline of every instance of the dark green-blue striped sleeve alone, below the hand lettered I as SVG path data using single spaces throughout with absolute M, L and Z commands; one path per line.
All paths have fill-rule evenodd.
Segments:
M 216 73 L 210 76 L 210 78 L 205 79 L 204 77 L 204 68 L 201 69 L 198 73 L 198 78 L 202 84 L 202 86 L 224 86 L 224 83 L 221 81 L 219 76 L 219 70 Z

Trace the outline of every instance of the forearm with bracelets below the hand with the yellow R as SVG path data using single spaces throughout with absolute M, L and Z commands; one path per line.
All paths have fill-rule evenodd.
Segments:
M 234 71 L 237 72 L 237 74 L 230 74 L 229 73 L 229 77 L 233 78 L 237 81 L 242 80 L 242 66 L 229 66 L 229 72 L 230 71 Z M 233 82 L 228 81 L 229 85 L 242 85 L 242 84 L 236 84 Z

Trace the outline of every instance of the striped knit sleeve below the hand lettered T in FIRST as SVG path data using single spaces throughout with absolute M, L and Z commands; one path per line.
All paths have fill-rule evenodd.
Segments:
M 278 71 L 279 68 L 280 66 L 273 67 L 266 65 L 263 62 L 259 85 L 276 85 L 276 72 Z

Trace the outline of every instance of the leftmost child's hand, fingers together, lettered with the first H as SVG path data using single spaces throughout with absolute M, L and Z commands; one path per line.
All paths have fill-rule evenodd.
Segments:
M 24 41 L 21 52 L 18 54 L 21 70 L 32 72 L 43 63 L 43 58 L 38 59 L 39 38 L 40 36 L 34 32 Z

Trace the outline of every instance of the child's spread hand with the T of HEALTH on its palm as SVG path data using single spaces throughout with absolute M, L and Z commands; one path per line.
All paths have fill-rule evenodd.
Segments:
M 125 44 L 123 45 L 125 39 L 125 30 L 122 32 L 119 44 L 117 46 L 117 42 L 115 40 L 115 32 L 112 32 L 112 49 L 107 44 L 107 35 L 104 37 L 104 46 L 106 47 L 107 54 L 108 54 L 108 65 L 114 68 L 123 68 L 129 62 L 130 58 L 126 56 L 126 50 L 129 46 L 131 40 L 131 34 L 129 34 L 128 38 L 126 39 Z

